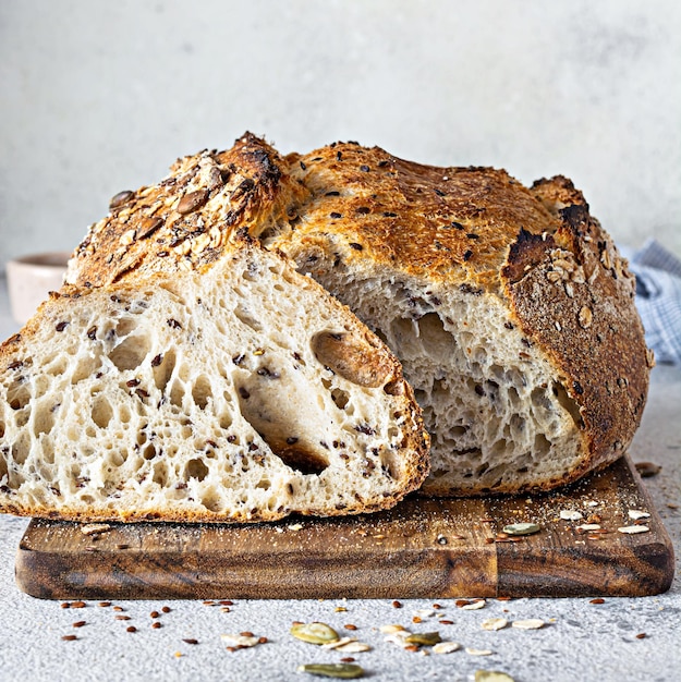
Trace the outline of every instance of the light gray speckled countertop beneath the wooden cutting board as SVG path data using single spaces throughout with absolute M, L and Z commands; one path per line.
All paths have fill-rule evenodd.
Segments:
M 8 312 L 7 288 L 0 280 L 0 337 L 17 330 Z M 488 600 L 481 610 L 458 609 L 452 600 L 405 600 L 396 609 L 389 600 L 239 600 L 231 606 L 200 601 L 117 601 L 100 607 L 62 609 L 59 602 L 22 594 L 14 583 L 14 552 L 26 520 L 0 516 L 0 680 L 314 680 L 295 672 L 301 663 L 337 662 L 343 656 L 294 640 L 291 622 L 318 620 L 372 646 L 353 654 L 370 680 L 474 679 L 476 670 L 500 670 L 515 682 L 665 681 L 681 670 L 681 369 L 660 366 L 653 382 L 643 425 L 631 450 L 634 461 L 653 461 L 661 472 L 645 479 L 654 503 L 672 538 L 677 575 L 671 589 L 645 598 Z M 672 507 L 669 507 L 671 504 Z M 224 595 L 229 599 L 229 595 Z M 167 613 L 161 607 L 170 607 Z M 227 610 L 229 609 L 229 610 Z M 344 609 L 344 610 L 341 610 Z M 438 630 L 461 643 L 448 655 L 415 654 L 386 643 L 380 625 L 399 623 L 419 631 Z M 160 617 L 153 619 L 151 611 Z M 451 624 L 439 624 L 436 616 Z M 430 614 L 428 614 L 430 613 Z M 125 616 L 130 620 L 117 620 Z M 539 618 L 542 630 L 507 628 L 485 631 L 482 622 Z M 153 629 L 157 620 L 160 628 Z M 85 621 L 74 629 L 73 623 Z M 353 624 L 356 631 L 344 631 Z M 134 625 L 136 632 L 127 632 Z M 253 632 L 268 642 L 229 651 L 221 634 Z M 645 633 L 645 637 L 636 635 Z M 75 634 L 77 640 L 63 641 Z M 186 642 L 186 641 L 190 642 Z M 196 641 L 197 643 L 191 643 Z M 465 650 L 488 649 L 488 656 Z

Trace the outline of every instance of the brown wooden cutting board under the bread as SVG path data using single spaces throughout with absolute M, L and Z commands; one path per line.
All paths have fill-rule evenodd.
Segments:
M 583 519 L 561 520 L 567 510 Z M 629 510 L 650 513 L 648 532 L 617 531 L 633 524 Z M 593 515 L 608 533 L 577 529 Z M 496 539 L 516 522 L 542 529 Z M 259 525 L 110 526 L 93 536 L 33 520 L 16 556 L 21 589 L 47 599 L 642 596 L 673 576 L 671 543 L 628 459 L 531 497 L 413 497 L 378 514 Z

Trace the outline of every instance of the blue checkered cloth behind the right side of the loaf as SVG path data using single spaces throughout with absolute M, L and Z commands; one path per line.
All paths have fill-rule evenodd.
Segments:
M 658 363 L 681 364 L 681 260 L 655 240 L 621 249 L 636 276 L 636 307 Z

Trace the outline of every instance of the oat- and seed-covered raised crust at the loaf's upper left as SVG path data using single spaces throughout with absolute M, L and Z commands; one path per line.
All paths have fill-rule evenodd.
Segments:
M 120 192 L 111 212 L 93 224 L 70 264 L 68 281 L 101 287 L 154 272 L 210 267 L 231 235 L 285 217 L 304 188 L 285 162 L 251 133 L 226 151 L 178 159 L 159 184 Z

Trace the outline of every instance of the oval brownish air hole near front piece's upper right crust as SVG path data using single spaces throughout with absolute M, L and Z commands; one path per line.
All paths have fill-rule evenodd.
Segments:
M 366 388 L 384 386 L 392 376 L 388 357 L 368 340 L 344 331 L 321 331 L 311 341 L 315 357 L 333 373 Z

